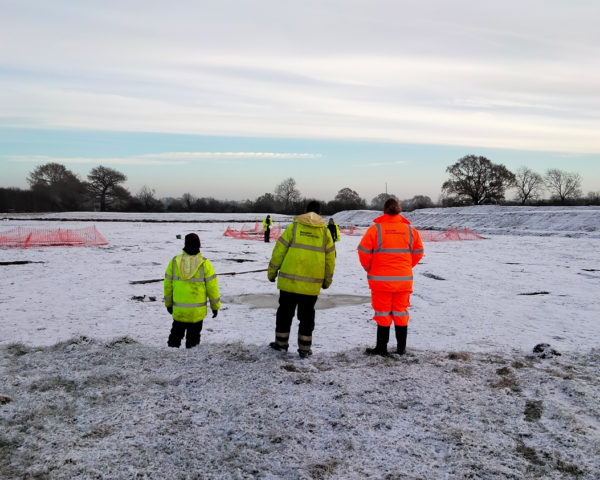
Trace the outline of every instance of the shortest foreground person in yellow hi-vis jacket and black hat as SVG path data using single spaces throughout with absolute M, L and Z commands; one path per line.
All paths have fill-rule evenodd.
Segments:
M 208 303 L 213 318 L 221 308 L 217 275 L 210 261 L 200 255 L 200 238 L 195 233 L 185 236 L 183 252 L 169 262 L 164 292 L 165 306 L 173 315 L 167 345 L 179 348 L 185 336 L 186 348 L 195 347 L 200 343 Z

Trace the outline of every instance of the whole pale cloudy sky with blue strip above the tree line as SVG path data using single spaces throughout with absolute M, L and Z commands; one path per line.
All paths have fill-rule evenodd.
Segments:
M 157 197 L 285 178 L 434 201 L 484 155 L 600 191 L 600 4 L 0 0 L 0 187 L 48 162 Z

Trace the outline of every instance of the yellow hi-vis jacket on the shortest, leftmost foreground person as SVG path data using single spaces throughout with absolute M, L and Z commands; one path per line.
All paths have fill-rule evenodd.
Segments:
M 202 255 L 183 252 L 173 257 L 165 272 L 165 306 L 173 307 L 173 320 L 197 323 L 206 317 L 207 297 L 210 309 L 221 308 L 217 275 Z

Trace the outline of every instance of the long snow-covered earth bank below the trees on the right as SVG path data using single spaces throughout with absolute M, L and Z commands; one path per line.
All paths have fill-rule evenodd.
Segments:
M 338 225 L 368 226 L 381 215 L 374 210 L 348 210 L 333 217 Z M 425 208 L 403 214 L 417 228 L 468 228 L 488 235 L 560 235 L 600 238 L 600 207 Z

